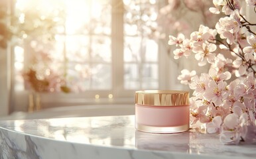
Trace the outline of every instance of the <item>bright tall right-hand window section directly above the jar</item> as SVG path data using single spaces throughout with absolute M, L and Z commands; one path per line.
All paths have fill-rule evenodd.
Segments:
M 159 46 L 155 31 L 162 2 L 123 0 L 125 89 L 159 88 Z

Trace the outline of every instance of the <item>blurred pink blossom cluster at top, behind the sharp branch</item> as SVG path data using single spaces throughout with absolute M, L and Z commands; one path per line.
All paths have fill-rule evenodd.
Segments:
M 159 31 L 164 32 L 182 32 L 188 35 L 192 29 L 198 27 L 198 24 L 214 26 L 214 22 L 218 20 L 218 15 L 213 15 L 209 11 L 212 7 L 211 1 L 208 0 L 168 0 L 168 4 L 164 5 L 159 11 L 157 23 Z M 197 18 L 190 21 L 189 15 Z

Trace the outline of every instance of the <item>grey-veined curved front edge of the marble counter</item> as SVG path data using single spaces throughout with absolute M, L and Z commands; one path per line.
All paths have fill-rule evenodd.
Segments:
M 161 150 L 101 146 L 65 140 L 56 140 L 33 134 L 26 134 L 0 127 L 1 158 L 96 158 L 96 159 L 139 159 L 139 158 L 236 158 L 235 156 L 212 156 L 208 154 L 187 154 Z

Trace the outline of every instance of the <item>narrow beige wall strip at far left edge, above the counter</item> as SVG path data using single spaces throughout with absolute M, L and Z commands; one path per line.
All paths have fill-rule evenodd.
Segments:
M 0 116 L 9 113 L 9 70 L 7 51 L 0 48 Z

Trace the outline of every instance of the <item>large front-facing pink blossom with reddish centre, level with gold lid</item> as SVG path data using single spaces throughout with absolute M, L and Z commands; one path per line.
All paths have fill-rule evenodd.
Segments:
M 218 84 L 215 81 L 210 81 L 208 87 L 209 89 L 204 93 L 205 99 L 211 101 L 216 106 L 221 105 L 225 97 L 227 97 L 224 81 L 220 81 Z

